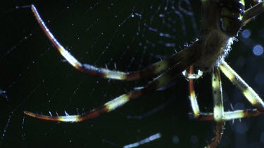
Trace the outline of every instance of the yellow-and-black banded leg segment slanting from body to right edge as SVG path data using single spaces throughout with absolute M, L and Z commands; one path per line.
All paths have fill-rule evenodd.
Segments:
M 243 79 L 241 79 L 241 77 L 236 72 L 234 72 L 234 70 L 229 65 L 227 65 L 227 62 L 222 61 L 220 63 L 220 69 L 222 73 L 224 73 L 225 76 L 227 76 L 227 78 L 230 79 L 230 81 L 242 91 L 246 99 L 251 102 L 253 107 L 256 107 L 262 112 L 264 111 L 263 100 L 261 100 L 258 94 Z

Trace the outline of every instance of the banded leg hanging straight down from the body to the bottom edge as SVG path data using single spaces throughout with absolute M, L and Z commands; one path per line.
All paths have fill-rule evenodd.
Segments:
M 213 87 L 213 119 L 216 122 L 215 126 L 215 137 L 212 142 L 208 144 L 207 147 L 217 147 L 221 137 L 222 132 L 224 130 L 224 107 L 222 103 L 222 84 L 220 79 L 220 71 L 219 69 L 215 69 L 212 72 L 212 87 Z

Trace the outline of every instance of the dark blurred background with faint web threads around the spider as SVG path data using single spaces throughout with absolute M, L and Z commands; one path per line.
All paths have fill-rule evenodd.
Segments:
M 109 81 L 73 69 L 51 45 L 30 8 L 34 4 L 54 36 L 81 62 L 122 71 L 139 70 L 199 38 L 200 1 L 9 1 L 1 4 L 0 145 L 123 147 L 150 135 L 141 147 L 203 147 L 213 138 L 213 122 L 188 119 L 187 80 L 139 97 L 124 107 L 82 123 L 42 121 L 23 111 L 56 116 L 83 114 L 149 79 Z M 132 16 L 134 15 L 134 17 Z M 264 97 L 264 15 L 239 33 L 227 57 L 230 66 Z M 242 29 L 242 31 L 244 30 Z M 163 33 L 163 34 L 161 34 Z M 164 36 L 168 34 L 168 36 Z M 225 110 L 251 108 L 222 76 Z M 210 74 L 196 81 L 201 110 L 212 111 Z M 137 117 L 135 119 L 131 117 Z M 142 118 L 143 117 L 143 118 Z M 263 116 L 227 121 L 220 147 L 263 147 Z

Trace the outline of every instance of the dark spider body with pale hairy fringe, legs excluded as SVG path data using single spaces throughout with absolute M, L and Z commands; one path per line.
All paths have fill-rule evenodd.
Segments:
M 196 66 L 203 72 L 219 67 L 241 28 L 244 0 L 203 1 L 201 51 Z

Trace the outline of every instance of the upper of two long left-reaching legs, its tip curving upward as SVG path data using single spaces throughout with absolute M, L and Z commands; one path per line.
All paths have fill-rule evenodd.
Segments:
M 40 17 L 37 11 L 37 8 L 34 5 L 32 5 L 31 9 L 32 9 L 32 12 L 34 13 L 34 17 L 37 19 L 37 22 L 39 23 L 39 26 L 42 28 L 42 30 L 44 31 L 48 39 L 51 41 L 51 43 L 61 53 L 61 55 L 63 55 L 63 57 L 70 63 L 70 65 L 73 65 L 75 69 L 79 70 L 80 72 L 84 72 L 86 74 L 101 76 L 107 79 L 119 79 L 119 80 L 132 81 L 135 79 L 140 79 L 144 76 L 156 75 L 160 72 L 163 72 L 165 71 L 165 69 L 168 69 L 174 66 L 175 64 L 177 64 L 177 62 L 180 62 L 180 60 L 184 58 L 184 56 L 182 55 L 182 52 L 180 51 L 179 53 L 172 55 L 170 58 L 156 62 L 153 65 L 150 65 L 149 67 L 146 67 L 139 72 L 120 72 L 120 71 L 109 70 L 105 68 L 94 67 L 93 65 L 89 65 L 89 64 L 82 64 L 75 57 L 73 57 L 73 55 L 71 55 L 61 45 L 61 43 L 57 41 L 54 35 L 49 31 L 49 28 L 46 27 L 44 21 L 42 20 L 42 18 Z

